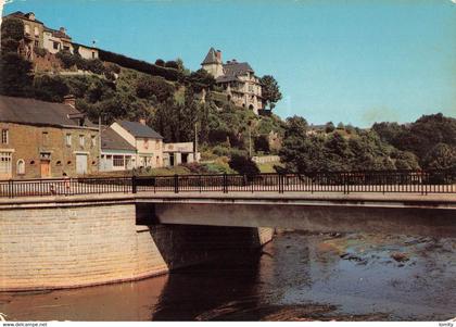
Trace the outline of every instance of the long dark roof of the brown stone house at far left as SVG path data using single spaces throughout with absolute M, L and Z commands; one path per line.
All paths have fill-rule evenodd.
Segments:
M 79 126 L 80 112 L 63 103 L 0 96 L 0 122 L 28 125 Z M 84 126 L 96 127 L 86 120 Z

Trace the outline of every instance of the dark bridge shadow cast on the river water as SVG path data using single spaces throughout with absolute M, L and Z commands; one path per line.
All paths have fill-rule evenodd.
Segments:
M 256 306 L 261 253 L 225 253 L 223 260 L 173 272 L 152 320 L 198 320 L 218 317 L 237 306 Z M 232 307 L 217 311 L 227 303 Z

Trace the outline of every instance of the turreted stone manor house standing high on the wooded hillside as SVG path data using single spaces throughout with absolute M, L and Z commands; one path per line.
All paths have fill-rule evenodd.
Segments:
M 255 114 L 263 110 L 259 78 L 255 76 L 249 63 L 233 59 L 224 64 L 221 51 L 211 48 L 201 66 L 224 88 L 229 101 L 238 106 L 248 108 Z

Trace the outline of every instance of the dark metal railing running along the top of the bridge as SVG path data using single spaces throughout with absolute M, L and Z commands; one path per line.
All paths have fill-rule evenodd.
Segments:
M 138 192 L 456 193 L 456 169 L 0 180 L 0 198 Z

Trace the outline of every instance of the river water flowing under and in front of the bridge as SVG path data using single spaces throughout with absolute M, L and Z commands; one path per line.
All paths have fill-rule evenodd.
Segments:
M 261 252 L 169 275 L 0 293 L 9 320 L 446 320 L 456 238 L 280 231 Z

